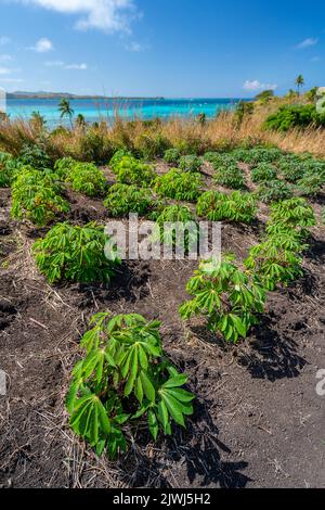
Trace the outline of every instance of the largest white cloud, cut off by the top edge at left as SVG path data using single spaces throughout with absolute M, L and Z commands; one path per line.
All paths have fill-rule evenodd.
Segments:
M 106 33 L 130 31 L 136 17 L 134 0 L 12 0 L 63 14 L 77 15 L 76 28 L 96 28 Z

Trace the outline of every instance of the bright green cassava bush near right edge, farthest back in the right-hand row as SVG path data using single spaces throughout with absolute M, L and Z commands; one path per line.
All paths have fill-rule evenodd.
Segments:
M 273 204 L 266 226 L 270 235 L 295 231 L 299 239 L 308 235 L 308 228 L 316 224 L 313 208 L 304 199 L 294 197 Z

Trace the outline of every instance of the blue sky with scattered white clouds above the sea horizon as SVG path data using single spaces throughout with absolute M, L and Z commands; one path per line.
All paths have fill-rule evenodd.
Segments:
M 324 65 L 324 1 L 0 0 L 8 91 L 243 98 Z

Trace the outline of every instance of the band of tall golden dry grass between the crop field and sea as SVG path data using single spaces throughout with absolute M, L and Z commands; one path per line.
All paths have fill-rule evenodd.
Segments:
M 134 118 L 128 122 L 117 113 L 110 125 L 101 120 L 99 125 L 87 128 L 58 128 L 53 132 L 42 130 L 28 120 L 6 120 L 0 124 L 0 149 L 16 154 L 24 143 L 41 142 L 53 158 L 69 155 L 77 160 L 100 162 L 107 161 L 119 148 L 140 151 L 150 148 L 158 153 L 166 145 L 179 146 L 187 153 L 203 153 L 239 144 L 265 143 L 290 152 L 311 152 L 325 157 L 325 129 L 294 129 L 281 133 L 262 128 L 266 116 L 287 103 L 288 100 L 278 99 L 266 105 L 257 105 L 253 114 L 244 117 L 240 125 L 229 112 L 204 125 L 196 118 L 171 118 L 168 122 Z

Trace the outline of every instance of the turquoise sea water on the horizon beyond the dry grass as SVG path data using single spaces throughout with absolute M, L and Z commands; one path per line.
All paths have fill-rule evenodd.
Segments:
M 70 105 L 75 115 L 82 114 L 87 122 L 101 118 L 113 120 L 116 111 L 125 118 L 140 117 L 150 119 L 160 117 L 191 117 L 205 113 L 208 118 L 222 111 L 233 110 L 239 99 L 126 99 L 126 100 L 89 100 L 74 99 Z M 11 118 L 27 119 L 32 112 L 43 115 L 49 125 L 61 123 L 57 110 L 58 100 L 52 99 L 9 99 L 6 113 Z M 66 120 L 65 120 L 66 122 Z

